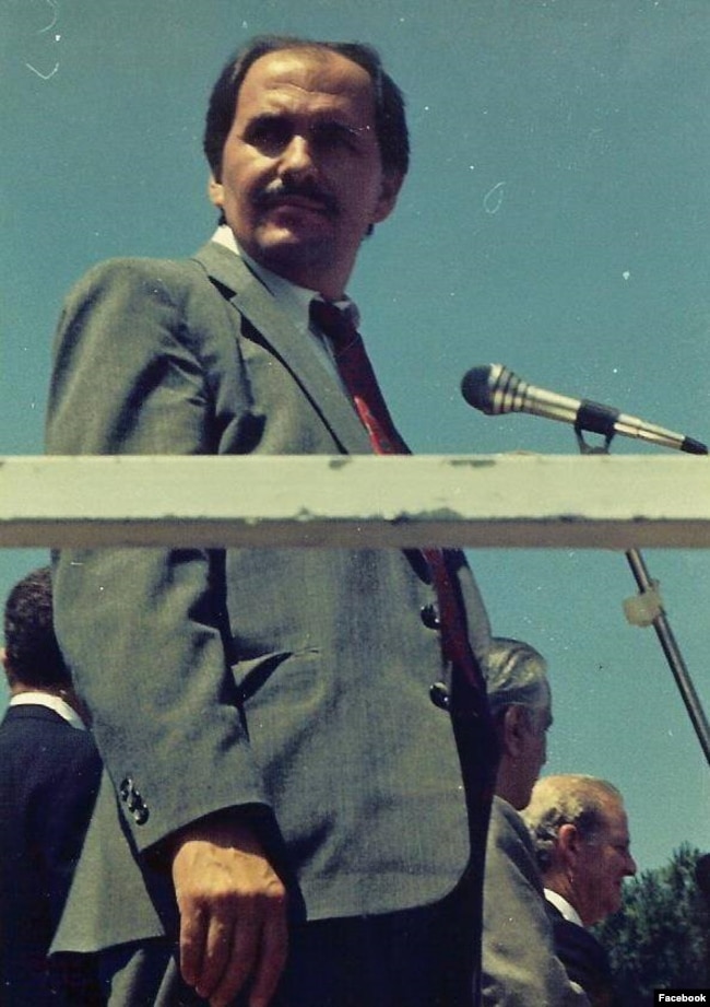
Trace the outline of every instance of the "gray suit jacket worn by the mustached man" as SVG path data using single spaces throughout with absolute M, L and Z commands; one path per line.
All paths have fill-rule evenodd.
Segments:
M 78 284 L 59 325 L 47 444 L 371 453 L 307 340 L 214 244 L 188 261 L 113 260 Z M 480 652 L 487 618 L 463 561 L 457 575 Z M 55 595 L 108 773 L 79 910 L 66 914 L 70 947 L 170 928 L 170 887 L 151 866 L 161 844 L 234 806 L 252 808 L 309 918 L 425 904 L 457 883 L 465 804 L 450 717 L 429 698 L 447 672 L 421 616 L 435 598 L 416 553 L 188 541 L 63 551 Z

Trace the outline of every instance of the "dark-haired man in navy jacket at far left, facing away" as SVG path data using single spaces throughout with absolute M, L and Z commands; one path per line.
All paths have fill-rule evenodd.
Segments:
M 100 776 L 55 637 L 48 566 L 10 592 L 4 642 L 10 703 L 0 724 L 0 1002 L 93 1005 L 97 988 L 88 970 L 75 959 L 50 963 L 47 957 Z

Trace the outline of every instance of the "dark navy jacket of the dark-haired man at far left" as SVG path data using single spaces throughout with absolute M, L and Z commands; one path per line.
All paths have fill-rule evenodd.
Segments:
M 8 710 L 0 724 L 0 1002 L 4 1007 L 64 1003 L 45 959 L 99 775 L 91 735 L 46 706 Z

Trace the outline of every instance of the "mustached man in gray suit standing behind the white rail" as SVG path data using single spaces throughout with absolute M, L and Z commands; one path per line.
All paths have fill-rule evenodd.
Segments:
M 367 47 L 257 39 L 204 145 L 213 241 L 103 264 L 68 298 L 50 453 L 371 453 L 309 305 L 353 314 L 359 244 L 407 169 L 399 90 Z M 471 1004 L 488 623 L 462 557 L 443 588 L 433 557 L 58 558 L 108 777 L 56 947 L 103 952 L 111 1004 Z

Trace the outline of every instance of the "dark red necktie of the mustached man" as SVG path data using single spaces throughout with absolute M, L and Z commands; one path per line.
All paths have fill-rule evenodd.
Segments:
M 363 338 L 353 323 L 334 304 L 319 300 L 311 301 L 310 317 L 332 342 L 338 371 L 375 452 L 379 455 L 410 454 L 392 422 Z M 428 564 L 439 602 L 443 655 L 464 672 L 469 684 L 480 693 L 481 676 L 471 653 L 465 614 L 446 562 L 446 554 L 441 549 L 422 549 L 421 552 Z

